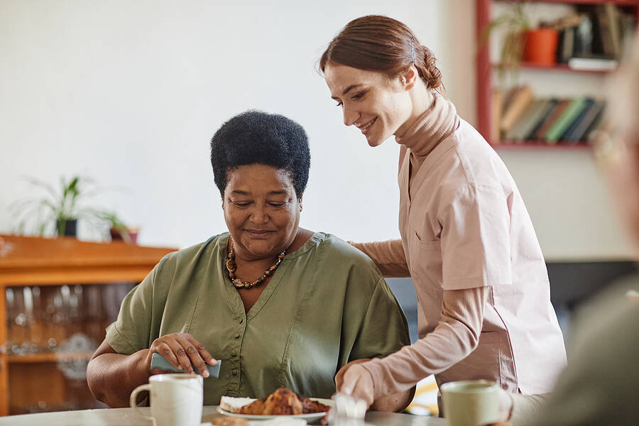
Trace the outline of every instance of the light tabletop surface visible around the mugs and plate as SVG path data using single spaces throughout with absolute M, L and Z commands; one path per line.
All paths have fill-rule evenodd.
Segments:
M 147 415 L 148 407 L 141 408 Z M 202 422 L 210 422 L 219 416 L 217 405 L 205 405 Z M 104 408 L 100 410 L 58 411 L 54 413 L 36 413 L 0 417 L 1 425 L 11 426 L 150 426 L 151 421 L 144 420 L 132 408 Z M 375 426 L 445 426 L 446 420 L 437 417 L 400 413 L 366 413 L 366 425 Z

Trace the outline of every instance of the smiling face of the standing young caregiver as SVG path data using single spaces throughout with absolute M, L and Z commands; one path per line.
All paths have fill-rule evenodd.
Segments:
M 392 135 L 401 136 L 410 119 L 412 102 L 405 80 L 382 72 L 359 70 L 329 62 L 324 78 L 344 112 L 344 124 L 356 126 L 370 146 Z

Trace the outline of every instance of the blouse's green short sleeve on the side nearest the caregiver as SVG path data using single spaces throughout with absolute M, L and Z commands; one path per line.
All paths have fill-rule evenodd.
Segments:
M 410 344 L 408 324 L 395 296 L 383 278 L 379 278 L 364 321 L 351 349 L 349 361 L 382 358 Z

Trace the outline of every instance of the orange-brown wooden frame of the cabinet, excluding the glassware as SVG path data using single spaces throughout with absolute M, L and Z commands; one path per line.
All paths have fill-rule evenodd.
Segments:
M 94 299 L 97 298 L 98 304 L 104 304 L 105 300 L 100 298 L 104 299 L 105 294 L 118 296 L 119 300 L 116 302 L 119 303 L 124 296 L 122 290 L 129 290 L 143 280 L 160 258 L 174 250 L 124 243 L 84 242 L 67 237 L 43 239 L 0 235 L 0 415 L 23 413 L 26 406 L 30 406 L 31 410 L 38 410 L 38 405 L 41 410 L 62 408 L 70 398 L 73 398 L 77 408 L 97 406 L 89 393 L 86 377 L 84 380 L 77 377 L 70 380 L 61 370 L 74 361 L 86 363 L 92 355 L 93 349 L 80 353 L 64 351 L 64 339 L 75 332 L 82 332 L 87 324 L 82 324 L 81 320 L 95 318 L 92 317 L 95 312 L 75 312 L 75 321 L 59 322 L 54 332 L 58 333 L 56 337 L 60 342 L 45 340 L 55 342 L 55 350 L 41 350 L 48 347 L 34 344 L 30 350 L 15 354 L 11 344 L 5 343 L 10 332 L 15 332 L 11 327 L 15 327 L 16 322 L 13 318 L 11 323 L 8 321 L 7 311 L 10 306 L 7 295 L 13 297 L 24 291 L 25 295 L 31 296 L 32 290 L 36 294 L 36 289 L 38 295 L 40 289 L 43 295 L 58 292 L 55 306 L 48 305 L 48 310 L 50 307 L 53 310 L 65 308 L 62 304 L 63 296 L 74 292 L 75 305 L 72 303 L 71 309 L 75 307 L 76 311 L 82 311 L 77 295 L 82 295 L 83 289 L 95 290 L 92 294 Z M 118 291 L 103 291 L 115 289 Z M 71 297 L 71 300 L 74 299 Z M 32 309 L 35 311 L 35 320 L 31 324 L 32 337 L 38 333 L 39 339 L 47 339 L 46 330 L 52 324 L 44 315 L 45 312 L 37 312 L 38 309 L 44 310 L 44 305 L 33 306 Z M 99 307 L 92 307 L 92 310 L 99 310 Z M 55 312 L 48 313 L 54 317 L 56 315 Z M 111 310 L 109 315 L 103 315 L 99 321 L 92 323 L 99 334 L 93 339 L 96 344 L 104 339 L 103 327 L 114 320 L 115 315 L 116 312 Z M 18 315 L 16 319 L 24 322 L 24 316 Z M 18 345 L 15 347 L 19 348 Z M 34 348 L 35 350 L 31 350 Z

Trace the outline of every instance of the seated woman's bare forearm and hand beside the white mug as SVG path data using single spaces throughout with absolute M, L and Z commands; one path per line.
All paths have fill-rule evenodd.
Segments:
M 158 352 L 170 364 L 187 373 L 209 376 L 207 364 L 214 366 L 217 360 L 204 346 L 188 333 L 173 333 L 158 337 L 151 348 L 131 355 L 118 354 L 105 339 L 87 366 L 87 383 L 94 397 L 111 408 L 129 407 L 129 395 L 136 387 L 148 383 L 153 374 L 170 373 L 159 368 L 151 369 L 151 356 Z M 195 370 L 191 364 L 195 366 Z M 138 397 L 138 403 L 143 396 Z

